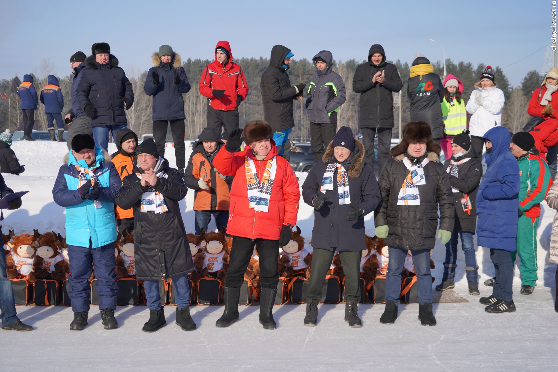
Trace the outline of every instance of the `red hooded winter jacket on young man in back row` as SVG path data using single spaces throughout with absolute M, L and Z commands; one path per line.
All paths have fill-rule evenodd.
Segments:
M 217 61 L 217 48 L 223 47 L 229 51 L 227 64 L 223 66 Z M 225 90 L 219 98 L 215 98 L 213 90 Z M 201 95 L 209 98 L 208 109 L 230 111 L 238 107 L 237 94 L 242 100 L 248 95 L 248 83 L 244 78 L 242 68 L 233 62 L 233 53 L 228 41 L 219 41 L 215 46 L 215 61 L 205 66 L 200 80 Z

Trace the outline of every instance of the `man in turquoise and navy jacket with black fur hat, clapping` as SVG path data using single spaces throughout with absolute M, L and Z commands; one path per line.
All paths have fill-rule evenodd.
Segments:
M 74 320 L 71 330 L 87 325 L 88 282 L 95 267 L 99 310 L 105 329 L 114 329 L 118 287 L 114 273 L 114 196 L 122 185 L 114 163 L 104 157 L 89 134 L 77 134 L 71 141 L 68 161 L 60 167 L 52 196 L 56 204 L 66 207 L 66 243 L 70 275 L 68 276 Z

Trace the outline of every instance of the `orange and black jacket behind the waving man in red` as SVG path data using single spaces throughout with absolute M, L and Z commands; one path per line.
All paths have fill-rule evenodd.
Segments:
M 204 150 L 202 142 L 196 142 L 194 152 L 190 155 L 190 160 L 184 172 L 184 183 L 189 189 L 195 190 L 194 210 L 229 210 L 229 191 L 230 185 L 233 183 L 233 177 L 227 176 L 223 180 L 213 167 L 213 158 L 224 144 L 219 143 L 213 156 L 210 156 Z M 202 190 L 198 185 L 198 180 L 202 175 L 205 175 L 205 182 L 208 183 L 209 190 Z

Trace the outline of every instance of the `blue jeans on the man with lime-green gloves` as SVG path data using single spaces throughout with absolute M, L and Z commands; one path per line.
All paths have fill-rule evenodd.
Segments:
M 407 250 L 389 246 L 389 262 L 386 274 L 386 302 L 399 305 L 401 296 L 401 272 Z M 430 275 L 430 249 L 413 250 L 413 264 L 417 273 L 417 290 L 419 303 L 432 303 L 432 276 Z

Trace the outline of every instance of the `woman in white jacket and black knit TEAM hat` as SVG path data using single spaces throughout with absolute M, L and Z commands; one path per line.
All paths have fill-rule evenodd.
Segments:
M 494 70 L 487 66 L 480 74 L 480 81 L 475 84 L 469 102 L 465 109 L 471 118 L 469 132 L 471 144 L 477 151 L 479 160 L 483 154 L 483 136 L 490 128 L 502 124 L 502 108 L 504 107 L 504 92 L 496 88 Z

